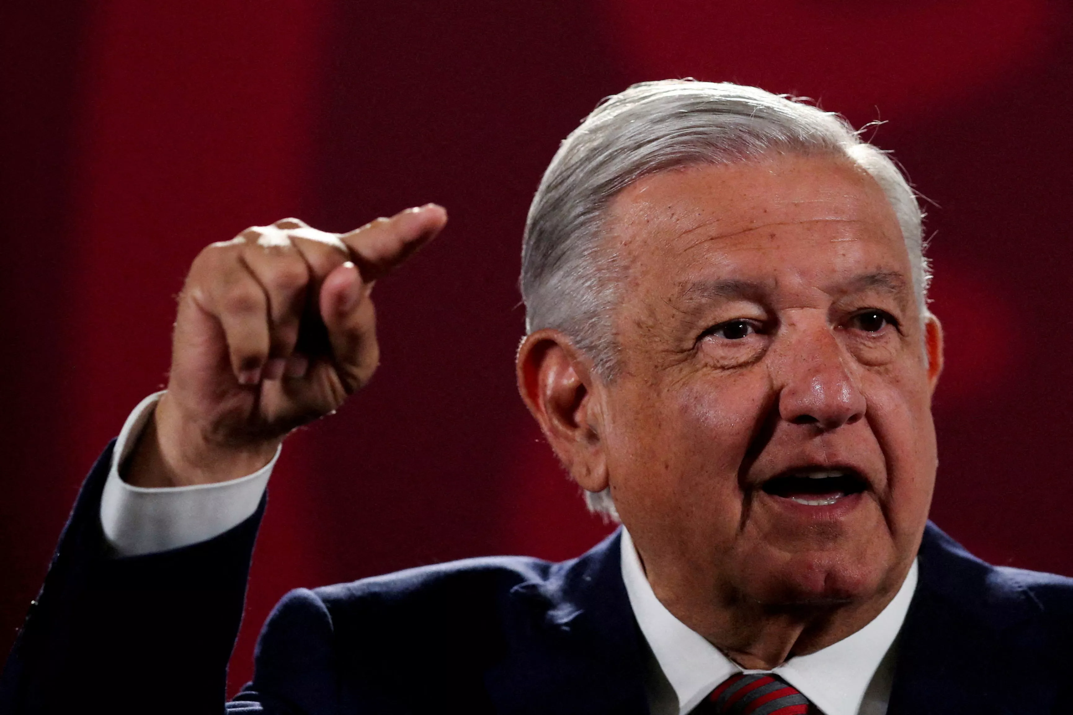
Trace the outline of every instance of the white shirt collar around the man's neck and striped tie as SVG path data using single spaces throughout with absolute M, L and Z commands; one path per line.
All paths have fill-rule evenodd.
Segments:
M 717 685 L 743 669 L 656 598 L 633 539 L 624 528 L 621 566 L 637 625 L 678 697 L 678 712 L 685 715 Z M 826 715 L 856 715 L 868 684 L 906 619 L 916 579 L 914 560 L 901 588 L 871 623 L 822 651 L 790 658 L 771 672 L 800 690 Z

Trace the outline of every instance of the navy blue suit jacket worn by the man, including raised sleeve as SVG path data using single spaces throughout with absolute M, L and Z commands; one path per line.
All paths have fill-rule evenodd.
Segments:
M 579 558 L 477 558 L 289 594 L 224 705 L 264 505 L 200 544 L 113 558 L 111 448 L 0 681 L 0 712 L 647 712 L 616 532 Z M 989 566 L 928 525 L 892 715 L 1073 712 L 1073 581 Z

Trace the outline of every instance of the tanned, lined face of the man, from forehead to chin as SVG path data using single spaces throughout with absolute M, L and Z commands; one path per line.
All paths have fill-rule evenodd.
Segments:
M 601 440 L 660 599 L 890 597 L 931 500 L 941 338 L 879 186 L 827 157 L 690 167 L 608 225 L 628 267 Z

